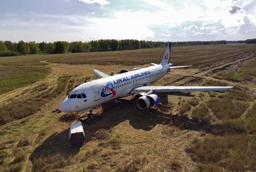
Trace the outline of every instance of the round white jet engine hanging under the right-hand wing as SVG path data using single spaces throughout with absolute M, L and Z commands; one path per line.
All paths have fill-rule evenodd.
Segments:
M 137 106 L 141 110 L 148 109 L 153 105 L 158 105 L 160 98 L 156 94 L 145 95 L 146 93 L 141 93 L 141 97 L 137 100 Z

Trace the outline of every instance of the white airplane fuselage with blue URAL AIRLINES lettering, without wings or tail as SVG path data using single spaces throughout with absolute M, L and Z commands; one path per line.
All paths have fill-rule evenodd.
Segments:
M 169 70 L 169 66 L 159 64 L 83 83 L 72 90 L 62 102 L 61 110 L 87 111 L 107 101 L 129 96 L 132 89 L 161 79 Z

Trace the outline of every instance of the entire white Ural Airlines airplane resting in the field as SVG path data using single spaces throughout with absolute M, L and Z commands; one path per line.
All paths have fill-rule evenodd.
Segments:
M 211 86 L 150 86 L 169 72 L 172 68 L 191 66 L 173 66 L 170 63 L 171 42 L 168 43 L 162 62 L 151 63 L 150 67 L 134 68 L 133 71 L 124 70 L 124 73 L 108 75 L 96 69 L 93 72 L 99 79 L 83 83 L 72 90 L 68 97 L 61 103 L 60 109 L 66 113 L 78 111 L 92 113 L 92 109 L 101 106 L 110 100 L 137 94 L 137 106 L 145 110 L 160 102 L 157 93 L 160 92 L 190 92 L 190 91 L 226 91 L 233 87 Z

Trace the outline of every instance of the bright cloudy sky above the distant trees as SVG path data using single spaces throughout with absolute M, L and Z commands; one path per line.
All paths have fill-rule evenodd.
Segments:
M 0 40 L 256 38 L 256 0 L 1 0 Z

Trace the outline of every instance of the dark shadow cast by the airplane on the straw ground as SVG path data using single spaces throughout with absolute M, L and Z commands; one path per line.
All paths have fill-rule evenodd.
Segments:
M 101 130 L 110 130 L 118 124 L 129 121 L 130 125 L 137 130 L 152 130 L 157 124 L 177 126 L 181 130 L 194 130 L 211 132 L 215 126 L 210 124 L 196 123 L 195 121 L 179 115 L 169 115 L 162 113 L 155 108 L 139 110 L 134 100 L 122 100 L 123 104 L 114 106 L 110 110 L 95 117 L 94 121 L 84 121 L 85 143 L 95 139 L 94 133 Z M 62 117 L 61 117 L 62 118 Z M 51 156 L 59 156 L 65 160 L 71 158 L 79 152 L 79 148 L 69 147 L 69 129 L 48 137 L 31 156 L 30 161 L 33 169 L 38 170 L 38 159 L 46 161 Z M 49 164 L 49 160 L 47 160 Z

